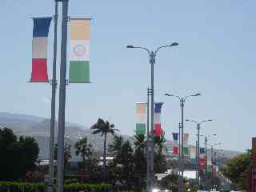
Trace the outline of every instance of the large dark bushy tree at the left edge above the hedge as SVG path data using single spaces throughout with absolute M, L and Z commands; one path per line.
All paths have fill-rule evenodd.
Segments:
M 23 179 L 36 167 L 39 147 L 34 138 L 17 138 L 12 130 L 0 129 L 0 151 L 0 180 Z

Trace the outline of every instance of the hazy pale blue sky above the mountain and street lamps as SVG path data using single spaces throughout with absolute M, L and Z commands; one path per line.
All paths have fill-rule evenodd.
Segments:
M 114 122 L 122 134 L 134 134 L 134 103 L 146 102 L 150 65 L 146 52 L 127 50 L 126 45 L 154 50 L 175 41 L 180 45 L 159 51 L 155 65 L 155 101 L 165 102 L 166 137 L 178 130 L 181 115 L 178 100 L 163 94 L 199 92 L 202 96 L 187 100 L 185 117 L 214 118 L 202 124 L 202 134 L 218 134 L 210 142 L 222 142 L 219 147 L 224 149 L 246 150 L 256 132 L 255 7 L 253 0 L 70 0 L 70 17 L 94 18 L 90 28 L 93 83 L 67 86 L 66 121 L 89 127 L 101 117 Z M 53 15 L 54 1 L 2 0 L 0 12 L 0 111 L 50 117 L 51 86 L 28 81 L 31 17 Z M 50 77 L 52 47 L 53 22 Z M 185 132 L 194 144 L 194 124 L 186 122 Z

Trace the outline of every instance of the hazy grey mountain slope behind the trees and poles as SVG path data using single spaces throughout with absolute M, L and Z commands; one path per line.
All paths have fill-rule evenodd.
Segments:
M 50 139 L 50 119 L 41 118 L 33 115 L 26 114 L 10 114 L 0 112 L 0 128 L 8 127 L 14 130 L 14 134 L 26 135 L 34 137 L 38 142 L 40 148 L 39 158 L 48 159 L 49 156 L 49 139 Z M 55 143 L 57 143 L 58 134 L 58 122 L 55 122 Z M 103 150 L 103 138 L 100 135 L 91 134 L 91 130 L 86 127 L 72 122 L 66 122 L 65 128 L 66 142 L 69 142 L 71 146 L 78 141 L 78 138 L 86 136 L 89 142 L 94 146 L 96 154 L 102 154 Z M 122 135 L 125 139 L 133 141 L 130 136 Z M 112 140 L 112 136 L 108 135 L 107 141 Z M 166 147 L 168 150 L 173 148 L 173 141 L 167 140 Z M 190 148 L 194 146 L 189 146 Z M 78 159 L 75 156 L 74 147 L 71 149 L 72 158 Z M 209 150 L 210 151 L 210 150 Z M 240 154 L 231 150 L 216 150 L 217 157 L 219 158 L 233 158 L 235 155 Z

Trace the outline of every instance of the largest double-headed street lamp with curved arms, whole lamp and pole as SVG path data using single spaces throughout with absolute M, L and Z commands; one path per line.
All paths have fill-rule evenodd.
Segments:
M 155 58 L 156 54 L 158 53 L 158 50 L 162 48 L 172 47 L 172 46 L 178 46 L 178 42 L 173 42 L 170 45 L 167 46 L 159 46 L 155 51 L 150 51 L 146 47 L 142 46 L 126 46 L 128 49 L 141 49 L 146 50 L 150 55 L 150 65 L 151 65 L 151 137 L 150 137 L 150 147 L 148 145 L 148 151 L 150 148 L 150 174 L 147 174 L 150 176 L 150 178 L 147 178 L 147 189 L 153 188 L 154 186 L 154 64 L 155 64 Z M 148 154 L 149 157 L 149 154 Z

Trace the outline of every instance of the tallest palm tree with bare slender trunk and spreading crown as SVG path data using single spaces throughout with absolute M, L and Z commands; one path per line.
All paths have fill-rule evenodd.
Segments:
M 104 181 L 106 181 L 106 135 L 107 134 L 115 134 L 115 131 L 118 129 L 114 129 L 114 124 L 108 121 L 104 122 L 102 118 L 98 118 L 98 121 L 90 127 L 93 130 L 93 134 L 101 134 L 101 137 L 104 136 L 104 154 L 103 154 L 103 177 Z

